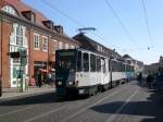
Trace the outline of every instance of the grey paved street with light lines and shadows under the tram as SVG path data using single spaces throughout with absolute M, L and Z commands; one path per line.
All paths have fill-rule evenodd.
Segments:
M 45 94 L 1 102 L 0 122 L 163 122 L 163 94 L 136 81 L 89 98 Z

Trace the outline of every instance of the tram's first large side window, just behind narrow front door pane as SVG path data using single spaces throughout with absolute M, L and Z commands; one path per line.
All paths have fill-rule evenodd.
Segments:
M 89 54 L 88 53 L 84 53 L 83 62 L 84 62 L 84 72 L 88 72 L 89 71 Z

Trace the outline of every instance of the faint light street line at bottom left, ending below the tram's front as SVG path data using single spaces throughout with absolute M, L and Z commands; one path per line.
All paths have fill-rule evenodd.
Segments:
M 46 113 L 36 115 L 36 117 L 34 117 L 34 118 L 30 118 L 30 119 L 28 119 L 28 120 L 25 120 L 24 122 L 32 122 L 32 121 L 37 120 L 37 119 L 39 119 L 39 118 L 46 117 L 46 115 L 48 115 L 48 114 L 50 114 L 50 113 L 53 113 L 53 112 L 60 111 L 60 110 L 62 110 L 62 109 L 65 109 L 67 106 L 68 106 L 68 105 L 63 106 L 63 107 L 60 107 L 60 108 L 54 109 L 54 110 L 51 110 L 51 111 L 48 111 L 48 112 L 46 112 Z

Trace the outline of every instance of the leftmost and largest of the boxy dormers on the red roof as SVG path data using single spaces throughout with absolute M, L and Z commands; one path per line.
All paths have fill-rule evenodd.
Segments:
M 36 22 L 36 16 L 33 11 L 23 11 L 22 14 L 24 15 L 25 19 L 28 21 L 35 23 Z

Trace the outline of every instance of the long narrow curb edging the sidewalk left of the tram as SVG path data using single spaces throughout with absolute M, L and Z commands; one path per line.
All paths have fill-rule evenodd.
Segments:
M 0 98 L 0 103 L 12 101 L 12 100 L 17 100 L 17 99 L 23 99 L 23 98 L 28 98 L 28 97 L 34 97 L 34 96 L 39 96 L 39 95 L 46 95 L 46 94 L 50 94 L 50 93 L 54 93 L 54 91 L 55 91 L 54 89 L 53 90 L 51 89 L 48 91 L 40 91 L 40 93 L 18 95 L 18 96 L 13 96 L 13 97 L 8 97 L 8 98 Z

